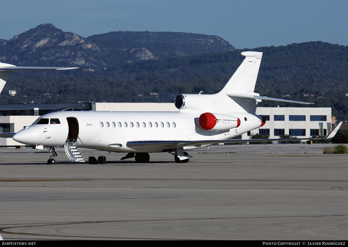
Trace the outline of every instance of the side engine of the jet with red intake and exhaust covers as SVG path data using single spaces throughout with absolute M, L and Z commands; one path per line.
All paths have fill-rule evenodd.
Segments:
M 240 119 L 220 113 L 206 112 L 199 116 L 199 126 L 205 130 L 219 131 L 237 128 L 240 125 Z

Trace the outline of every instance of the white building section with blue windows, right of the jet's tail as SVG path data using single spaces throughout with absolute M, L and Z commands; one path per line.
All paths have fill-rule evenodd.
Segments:
M 306 138 L 325 136 L 331 132 L 330 107 L 258 107 L 256 114 L 262 115 L 266 123 L 243 134 L 242 139 L 248 139 L 251 134 L 256 133 L 268 135 L 273 139 L 284 134 Z

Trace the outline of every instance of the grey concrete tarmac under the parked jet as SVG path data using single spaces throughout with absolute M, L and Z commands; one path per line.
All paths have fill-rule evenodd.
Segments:
M 330 145 L 330 144 L 326 144 Z M 58 149 L 0 149 L 4 240 L 347 240 L 347 154 L 324 144 L 228 145 L 189 151 L 186 164 L 151 153 L 106 165 Z

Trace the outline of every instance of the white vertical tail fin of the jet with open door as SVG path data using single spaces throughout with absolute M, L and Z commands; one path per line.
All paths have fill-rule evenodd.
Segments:
M 224 94 L 240 93 L 254 95 L 254 88 L 259 73 L 262 52 L 243 51 L 241 54 L 245 56 L 245 59 L 232 75 L 225 87 L 221 90 Z

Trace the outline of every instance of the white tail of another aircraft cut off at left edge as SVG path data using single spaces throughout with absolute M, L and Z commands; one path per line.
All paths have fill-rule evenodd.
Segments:
M 8 80 L 11 72 L 16 70 L 71 70 L 77 69 L 77 67 L 17 67 L 8 63 L 0 63 L 0 93 Z

